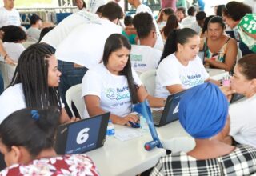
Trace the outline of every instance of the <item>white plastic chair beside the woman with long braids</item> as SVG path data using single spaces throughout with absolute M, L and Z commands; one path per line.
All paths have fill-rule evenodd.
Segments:
M 86 104 L 81 95 L 82 84 L 71 86 L 70 89 L 66 91 L 66 104 L 69 106 L 73 117 L 74 111 L 72 109 L 72 102 L 74 102 L 74 106 L 78 109 L 78 113 L 81 118 L 89 118 L 90 116 L 86 110 Z

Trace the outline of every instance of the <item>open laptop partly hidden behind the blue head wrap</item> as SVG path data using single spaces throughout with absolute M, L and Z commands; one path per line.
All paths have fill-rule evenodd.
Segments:
M 166 105 L 163 110 L 153 111 L 152 118 L 154 126 L 165 126 L 170 122 L 178 120 L 178 105 L 179 100 L 186 90 L 178 92 L 177 94 L 171 94 L 166 99 Z

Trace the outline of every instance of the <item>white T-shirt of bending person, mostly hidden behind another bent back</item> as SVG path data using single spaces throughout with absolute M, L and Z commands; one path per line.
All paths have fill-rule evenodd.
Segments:
M 50 30 L 41 40 L 57 49 L 58 45 L 66 38 L 74 28 L 84 22 L 98 19 L 97 14 L 91 14 L 86 10 L 80 10 L 71 14 L 58 23 L 53 30 Z

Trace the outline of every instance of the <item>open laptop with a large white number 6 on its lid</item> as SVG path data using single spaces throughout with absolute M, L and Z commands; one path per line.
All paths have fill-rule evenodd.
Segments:
M 58 126 L 57 154 L 81 154 L 103 146 L 110 112 Z

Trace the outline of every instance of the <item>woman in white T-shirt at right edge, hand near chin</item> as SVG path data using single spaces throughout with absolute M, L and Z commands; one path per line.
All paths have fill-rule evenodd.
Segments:
M 246 100 L 230 105 L 230 135 L 235 142 L 256 147 L 256 54 L 239 59 L 226 94 L 243 94 Z M 232 90 L 232 91 L 228 91 Z M 231 140 L 230 140 L 231 142 Z

